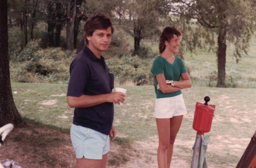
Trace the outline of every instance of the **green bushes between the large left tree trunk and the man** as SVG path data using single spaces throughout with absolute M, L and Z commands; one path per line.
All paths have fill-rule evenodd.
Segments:
M 36 41 L 30 41 L 18 55 L 18 62 L 10 63 L 11 79 L 17 82 L 67 83 L 69 65 L 74 56 L 61 48 L 40 49 Z

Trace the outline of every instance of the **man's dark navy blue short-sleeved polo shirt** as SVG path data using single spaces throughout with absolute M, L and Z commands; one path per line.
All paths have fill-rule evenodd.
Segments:
M 114 75 L 110 74 L 104 57 L 97 58 L 88 47 L 79 52 L 70 65 L 67 96 L 111 93 Z M 114 118 L 113 103 L 75 108 L 73 124 L 109 135 Z

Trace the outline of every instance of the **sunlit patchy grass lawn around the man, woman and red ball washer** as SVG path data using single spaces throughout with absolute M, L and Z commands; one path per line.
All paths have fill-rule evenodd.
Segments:
M 157 138 L 154 118 L 155 93 L 153 86 L 118 86 L 127 89 L 124 105 L 115 105 L 115 119 L 119 139 L 124 142 L 148 142 Z M 15 104 L 23 117 L 70 128 L 73 110 L 66 103 L 66 84 L 12 83 Z M 180 152 L 189 164 L 196 131 L 192 128 L 196 102 L 203 103 L 209 96 L 209 104 L 216 105 L 212 128 L 208 135 L 207 162 L 218 168 L 235 167 L 255 131 L 256 89 L 195 87 L 183 90 L 188 114 L 184 116 L 176 139 Z M 174 157 L 179 156 L 174 152 Z

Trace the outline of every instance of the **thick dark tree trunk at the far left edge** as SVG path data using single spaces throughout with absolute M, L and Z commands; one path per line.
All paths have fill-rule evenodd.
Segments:
M 7 0 L 0 1 L 0 127 L 8 123 L 18 124 L 18 113 L 13 97 L 8 56 Z

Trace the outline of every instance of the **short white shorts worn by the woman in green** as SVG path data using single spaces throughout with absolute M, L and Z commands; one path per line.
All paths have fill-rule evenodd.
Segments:
M 155 102 L 156 118 L 172 118 L 187 114 L 182 94 L 170 98 L 159 98 Z

